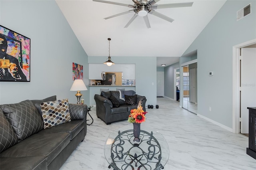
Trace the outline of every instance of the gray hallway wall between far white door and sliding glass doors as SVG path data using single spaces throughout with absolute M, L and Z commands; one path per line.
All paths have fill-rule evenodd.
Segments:
M 174 69 L 179 68 L 180 63 L 174 63 L 164 67 L 164 96 L 174 99 Z

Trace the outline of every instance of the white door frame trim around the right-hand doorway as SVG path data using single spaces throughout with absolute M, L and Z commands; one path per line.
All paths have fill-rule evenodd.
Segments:
M 233 46 L 232 56 L 232 131 L 240 133 L 240 48 L 256 43 L 256 39 Z

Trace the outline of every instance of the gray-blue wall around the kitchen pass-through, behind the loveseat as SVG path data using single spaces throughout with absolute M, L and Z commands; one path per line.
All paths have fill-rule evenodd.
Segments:
M 88 63 L 103 63 L 106 56 L 88 56 Z M 146 105 L 156 105 L 156 57 L 112 57 L 116 64 L 135 64 L 136 93 L 146 96 Z M 112 66 L 110 66 L 112 67 Z

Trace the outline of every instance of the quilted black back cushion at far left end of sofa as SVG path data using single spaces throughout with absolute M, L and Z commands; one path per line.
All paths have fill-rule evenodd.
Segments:
M 2 109 L 0 109 L 0 142 L 0 152 L 18 143 L 18 138 L 12 130 L 12 126 L 4 116 Z

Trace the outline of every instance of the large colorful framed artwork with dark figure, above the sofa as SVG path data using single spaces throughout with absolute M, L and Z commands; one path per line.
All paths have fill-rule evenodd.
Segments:
M 30 38 L 1 25 L 0 81 L 30 81 Z

